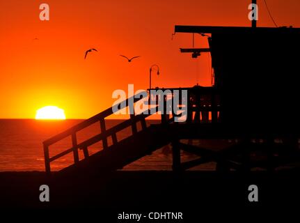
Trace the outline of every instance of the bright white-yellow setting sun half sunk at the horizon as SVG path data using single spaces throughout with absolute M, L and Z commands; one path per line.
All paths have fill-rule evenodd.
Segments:
M 65 112 L 56 106 L 46 106 L 38 109 L 35 119 L 65 119 Z

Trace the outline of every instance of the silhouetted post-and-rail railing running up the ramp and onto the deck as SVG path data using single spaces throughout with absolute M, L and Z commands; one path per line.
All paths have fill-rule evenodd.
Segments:
M 171 89 L 174 90 L 174 89 Z M 198 105 L 198 107 L 193 107 L 191 105 L 190 99 L 188 99 L 188 104 L 187 107 L 189 107 L 189 112 L 187 113 L 187 123 L 191 122 L 191 117 L 192 117 L 192 112 L 212 112 L 212 122 L 216 122 L 217 119 L 217 112 L 220 111 L 219 105 L 217 105 L 214 102 L 214 95 L 216 93 L 216 90 L 214 89 L 209 89 L 209 88 L 200 88 L 200 89 L 189 89 L 191 92 L 194 91 L 201 91 L 203 93 L 212 93 L 212 102 L 211 106 L 203 107 L 202 105 Z M 173 91 L 172 91 L 173 92 Z M 56 134 L 54 137 L 51 137 L 45 141 L 43 141 L 43 146 L 44 146 L 44 155 L 45 155 L 45 170 L 47 174 L 51 172 L 50 169 L 50 162 L 62 157 L 63 155 L 67 155 L 68 153 L 73 153 L 74 155 L 74 164 L 77 164 L 79 162 L 79 153 L 78 149 L 81 149 L 84 152 L 84 158 L 89 157 L 88 155 L 88 146 L 91 146 L 98 141 L 102 141 L 103 144 L 103 149 L 107 149 L 109 146 L 107 144 L 107 138 L 111 137 L 113 145 L 118 144 L 118 139 L 117 139 L 117 132 L 120 132 L 121 130 L 124 130 L 125 128 L 132 127 L 132 134 L 135 134 L 137 132 L 136 128 L 136 123 L 141 121 L 141 127 L 142 130 L 145 130 L 147 128 L 147 125 L 145 123 L 145 118 L 148 116 L 155 114 L 157 112 L 157 108 L 160 106 L 159 104 L 154 104 L 155 107 L 150 107 L 148 111 L 144 111 L 141 114 L 135 114 L 134 113 L 134 103 L 138 102 L 139 100 L 142 100 L 144 98 L 141 98 L 140 96 L 143 95 L 144 92 L 141 92 L 137 95 L 134 95 L 130 98 L 127 98 L 123 102 L 120 102 L 116 105 L 113 105 L 113 107 L 110 107 L 109 109 L 104 110 L 104 112 L 100 112 L 99 114 L 96 114 L 95 116 L 88 118 L 86 121 L 83 121 L 77 125 L 74 125 L 72 128 L 69 128 L 68 130 L 65 130 L 61 132 L 60 134 Z M 189 98 L 189 93 L 188 93 L 188 98 Z M 158 100 L 158 99 L 156 99 Z M 173 99 L 167 99 L 166 95 L 164 95 L 164 98 L 161 98 L 160 100 L 164 100 L 164 108 L 163 108 L 163 113 L 161 114 L 161 124 L 168 124 L 174 121 L 174 118 L 178 116 L 178 114 L 173 114 L 172 118 L 170 118 L 169 114 L 166 113 L 166 102 L 168 100 L 173 100 Z M 181 102 L 180 102 L 181 103 Z M 152 104 L 151 104 L 152 105 Z M 131 106 L 133 106 L 133 114 L 130 115 L 130 118 L 123 121 L 122 123 L 119 123 L 118 125 L 115 125 L 109 129 L 106 129 L 105 126 L 105 120 L 107 116 L 110 116 L 113 114 L 113 111 L 124 109 L 126 107 L 129 107 L 129 110 L 131 109 Z M 198 115 L 198 119 L 200 119 L 200 114 Z M 100 122 L 100 128 L 101 128 L 101 133 L 96 134 L 95 136 L 86 139 L 85 141 L 82 141 L 80 144 L 77 144 L 77 132 L 80 130 L 83 130 L 84 128 L 88 127 L 89 125 L 92 125 L 93 123 Z M 72 139 L 72 147 L 68 148 L 67 150 L 58 153 L 54 155 L 53 157 L 49 157 L 49 146 L 52 144 L 55 144 L 58 141 L 61 141 L 62 139 L 65 139 L 67 137 L 71 137 Z

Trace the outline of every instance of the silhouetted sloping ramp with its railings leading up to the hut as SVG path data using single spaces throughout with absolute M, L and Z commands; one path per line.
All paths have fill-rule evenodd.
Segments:
M 141 100 L 136 97 L 136 95 L 128 98 L 127 100 L 120 102 L 118 105 L 114 105 L 115 109 L 124 109 L 129 107 L 129 109 L 134 109 L 134 106 L 130 105 L 130 102 L 138 102 Z M 164 97 L 166 100 L 166 97 Z M 166 103 L 164 103 L 166 105 Z M 157 110 L 157 105 L 148 109 L 147 114 L 131 114 L 130 118 L 107 129 L 105 125 L 105 118 L 113 114 L 113 107 L 104 110 L 100 114 L 97 114 L 86 121 L 83 121 L 74 127 L 61 132 L 60 134 L 51 137 L 43 142 L 44 154 L 45 154 L 45 170 L 47 174 L 51 173 L 51 162 L 63 157 L 69 153 L 73 153 L 74 164 L 69 167 L 61 169 L 61 173 L 74 173 L 82 171 L 84 173 L 88 171 L 112 171 L 116 169 L 122 169 L 125 165 L 138 160 L 139 158 L 152 153 L 153 151 L 161 148 L 166 144 L 169 144 L 171 138 L 168 137 L 167 123 L 173 122 L 173 118 L 170 118 L 166 112 L 161 114 L 161 124 L 147 126 L 145 118 L 153 114 Z M 166 109 L 164 107 L 164 109 Z M 134 112 L 133 112 L 134 113 Z M 173 114 L 173 117 L 175 115 Z M 141 130 L 138 132 L 137 123 L 141 123 Z M 90 139 L 86 139 L 80 144 L 77 143 L 77 132 L 87 128 L 94 123 L 100 123 L 101 132 Z M 125 128 L 132 129 L 132 135 L 118 141 L 117 133 Z M 49 157 L 49 146 L 56 144 L 58 141 L 70 137 L 72 140 L 72 148 Z M 112 145 L 108 146 L 108 138 L 111 137 Z M 102 141 L 103 150 L 98 151 L 93 155 L 89 155 L 88 148 L 93 144 Z M 84 153 L 84 159 L 79 160 L 79 151 Z

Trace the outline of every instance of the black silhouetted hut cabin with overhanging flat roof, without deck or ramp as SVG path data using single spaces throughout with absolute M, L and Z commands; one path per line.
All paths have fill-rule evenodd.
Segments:
M 299 29 L 176 26 L 176 32 L 211 33 L 221 121 L 249 134 L 291 135 L 299 126 Z M 245 133 L 246 133 L 245 132 Z

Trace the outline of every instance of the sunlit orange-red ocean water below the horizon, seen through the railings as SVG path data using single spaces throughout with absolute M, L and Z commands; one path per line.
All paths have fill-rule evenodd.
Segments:
M 0 171 L 45 171 L 42 141 L 66 130 L 82 120 L 38 121 L 34 119 L 0 119 Z M 150 122 L 148 121 L 148 125 Z M 106 120 L 106 128 L 120 123 L 120 120 Z M 138 126 L 139 128 L 139 126 Z M 100 124 L 95 123 L 77 133 L 78 143 L 100 133 Z M 117 134 L 118 140 L 131 134 L 127 128 Z M 109 139 L 111 144 L 111 139 Z M 69 138 L 49 147 L 50 157 L 72 147 Z M 89 153 L 97 153 L 102 149 L 102 142 L 89 147 Z M 79 151 L 79 157 L 84 156 Z M 182 153 L 182 160 L 196 158 L 189 153 Z M 73 155 L 65 155 L 51 163 L 53 171 L 68 167 L 73 163 Z M 124 167 L 124 170 L 171 170 L 171 146 L 167 145 L 152 155 L 147 155 Z M 214 163 L 204 164 L 200 169 L 213 170 Z M 196 168 L 196 169 L 199 169 Z

